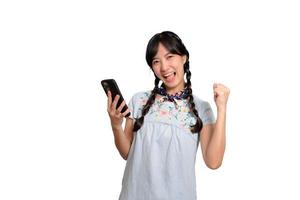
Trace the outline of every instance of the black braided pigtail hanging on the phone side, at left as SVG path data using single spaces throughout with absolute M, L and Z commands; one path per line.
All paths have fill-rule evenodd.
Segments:
M 152 104 L 154 103 L 155 96 L 158 91 L 158 84 L 159 84 L 159 78 L 155 76 L 155 81 L 154 81 L 155 87 L 151 91 L 150 97 L 142 109 L 142 116 L 140 118 L 137 118 L 135 121 L 134 126 L 133 126 L 133 131 L 138 131 L 141 128 L 141 126 L 143 125 L 144 117 L 150 110 L 150 107 L 152 106 Z

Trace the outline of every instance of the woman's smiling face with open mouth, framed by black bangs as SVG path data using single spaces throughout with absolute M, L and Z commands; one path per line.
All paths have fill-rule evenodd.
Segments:
M 184 68 L 186 56 L 172 54 L 161 43 L 152 60 L 152 69 L 155 75 L 164 82 L 169 94 L 174 94 L 184 88 Z

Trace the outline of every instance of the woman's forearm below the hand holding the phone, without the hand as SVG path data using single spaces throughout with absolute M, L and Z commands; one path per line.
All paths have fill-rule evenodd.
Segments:
M 129 138 L 124 134 L 122 126 L 113 127 L 112 131 L 114 133 L 115 145 L 124 160 L 127 160 L 131 142 Z

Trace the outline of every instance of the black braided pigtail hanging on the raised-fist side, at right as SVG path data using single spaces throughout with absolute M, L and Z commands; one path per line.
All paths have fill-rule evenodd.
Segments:
M 189 61 L 187 61 L 184 64 L 184 71 L 186 73 L 186 79 L 187 79 L 187 84 L 186 85 L 187 85 L 188 94 L 189 94 L 189 103 L 190 103 L 191 110 L 193 111 L 193 113 L 194 113 L 194 115 L 196 116 L 196 119 L 197 119 L 196 124 L 191 127 L 191 131 L 192 131 L 192 133 L 200 133 L 203 124 L 202 124 L 202 120 L 200 119 L 200 117 L 198 115 L 198 111 L 195 108 L 193 91 L 192 91 L 192 83 L 191 83 L 192 73 L 191 73 L 189 68 L 190 68 Z

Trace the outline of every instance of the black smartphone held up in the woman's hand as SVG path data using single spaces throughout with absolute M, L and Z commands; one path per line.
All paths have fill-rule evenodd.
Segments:
M 121 91 L 117 85 L 117 82 L 114 79 L 105 79 L 101 81 L 101 85 L 107 95 L 107 92 L 111 92 L 112 101 L 115 99 L 115 96 L 120 95 L 120 98 L 117 103 L 117 108 L 121 105 L 121 103 L 124 101 L 124 98 L 121 94 Z M 125 106 L 122 108 L 121 113 L 125 112 L 127 110 L 128 106 L 125 104 Z M 125 116 L 129 117 L 130 112 Z

